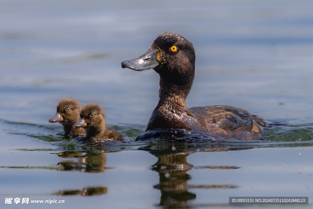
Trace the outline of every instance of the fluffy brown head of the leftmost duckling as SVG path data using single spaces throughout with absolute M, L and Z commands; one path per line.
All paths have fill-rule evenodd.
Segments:
M 64 98 L 57 105 L 55 116 L 49 123 L 74 124 L 80 117 L 80 103 L 72 98 Z

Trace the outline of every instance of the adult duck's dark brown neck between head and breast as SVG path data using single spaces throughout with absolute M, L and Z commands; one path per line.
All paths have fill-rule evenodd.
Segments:
M 157 107 L 166 108 L 173 113 L 187 111 L 186 98 L 192 86 L 193 76 L 183 81 L 181 78 L 160 74 L 159 103 Z

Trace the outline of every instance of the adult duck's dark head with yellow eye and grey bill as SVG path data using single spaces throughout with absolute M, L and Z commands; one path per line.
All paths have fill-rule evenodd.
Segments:
M 153 69 L 160 75 L 194 76 L 195 60 L 195 51 L 190 41 L 180 34 L 166 32 L 154 40 L 146 53 L 123 61 L 121 65 L 122 68 L 135 71 Z

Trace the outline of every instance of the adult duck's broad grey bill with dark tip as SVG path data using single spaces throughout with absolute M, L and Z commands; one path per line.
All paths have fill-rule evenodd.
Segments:
M 145 71 L 152 69 L 159 65 L 158 61 L 156 60 L 156 50 L 148 50 L 145 54 L 132 59 L 126 60 L 121 63 L 122 68 L 129 68 L 134 71 Z

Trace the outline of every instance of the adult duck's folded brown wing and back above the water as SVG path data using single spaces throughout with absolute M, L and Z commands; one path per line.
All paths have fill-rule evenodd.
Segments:
M 223 130 L 230 137 L 259 139 L 261 126 L 266 126 L 261 118 L 237 107 L 216 105 L 192 107 L 189 111 L 206 123 L 208 130 Z

